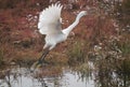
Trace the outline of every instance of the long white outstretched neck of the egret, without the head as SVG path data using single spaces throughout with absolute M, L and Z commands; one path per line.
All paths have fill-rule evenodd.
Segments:
M 76 17 L 76 20 L 66 29 L 63 30 L 63 33 L 65 33 L 66 37 L 68 37 L 69 32 L 78 25 L 79 19 L 82 17 L 83 15 L 78 14 Z

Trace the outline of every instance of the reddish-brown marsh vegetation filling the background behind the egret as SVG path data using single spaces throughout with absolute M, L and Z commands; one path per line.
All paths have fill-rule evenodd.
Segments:
M 0 0 L 0 64 L 6 61 L 28 63 L 29 61 L 34 61 L 40 57 L 44 43 L 44 37 L 37 31 L 38 16 L 39 12 L 49 4 L 57 2 L 57 0 L 51 1 L 52 2 L 49 2 L 49 0 Z M 48 59 L 53 57 L 52 60 L 56 59 L 53 61 L 65 63 L 65 61 L 68 61 L 65 53 L 67 53 L 67 50 L 69 52 L 73 44 L 75 45 L 77 41 L 81 41 L 81 43 L 88 42 L 84 46 L 89 49 L 84 52 L 84 49 L 82 49 L 83 47 L 81 48 L 81 53 L 86 54 L 93 50 L 94 45 L 101 44 L 102 48 L 105 48 L 110 37 L 118 38 L 120 30 L 116 30 L 117 28 L 113 25 L 115 24 L 116 17 L 113 18 L 114 16 L 112 17 L 106 15 L 104 8 L 99 5 L 103 0 L 79 0 L 78 2 L 75 0 L 60 1 L 64 5 L 62 12 L 64 21 L 63 28 L 66 28 L 75 20 L 76 13 L 78 11 L 88 10 L 88 6 L 90 6 L 90 9 L 95 9 L 98 12 L 94 15 L 89 14 L 88 16 L 81 18 L 80 24 L 74 29 L 75 37 L 68 38 L 67 42 L 60 44 L 55 49 L 53 49 L 50 53 L 50 56 L 48 56 Z M 125 8 L 126 6 L 122 9 Z M 127 34 L 126 38 L 128 37 L 129 34 Z M 120 47 L 123 53 L 129 53 L 129 50 L 122 48 L 123 42 L 119 43 L 119 45 L 121 45 Z M 56 54 L 56 52 L 60 54 Z M 69 56 L 73 57 L 73 54 L 75 55 L 78 52 L 72 52 L 69 53 Z M 78 55 L 75 56 L 78 57 Z

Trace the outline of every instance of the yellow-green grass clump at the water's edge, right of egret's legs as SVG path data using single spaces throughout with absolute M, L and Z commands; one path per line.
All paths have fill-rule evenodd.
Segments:
M 79 64 L 87 60 L 87 44 L 83 42 L 76 42 L 67 50 L 68 64 Z

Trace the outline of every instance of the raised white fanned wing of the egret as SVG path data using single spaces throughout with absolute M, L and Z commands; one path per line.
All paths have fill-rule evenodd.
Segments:
M 63 5 L 52 4 L 43 10 L 39 15 L 38 29 L 41 34 L 61 32 L 61 11 Z

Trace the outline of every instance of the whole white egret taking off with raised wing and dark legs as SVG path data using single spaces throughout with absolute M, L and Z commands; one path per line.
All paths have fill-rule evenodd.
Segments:
M 87 15 L 87 11 L 81 11 L 77 15 L 76 20 L 69 27 L 62 30 L 62 8 L 63 5 L 55 3 L 43 10 L 39 15 L 38 29 L 41 34 L 46 34 L 46 45 L 43 46 L 44 53 L 32 67 L 41 64 L 47 54 L 54 48 L 57 43 L 65 41 L 69 32 L 78 25 L 79 19 Z

